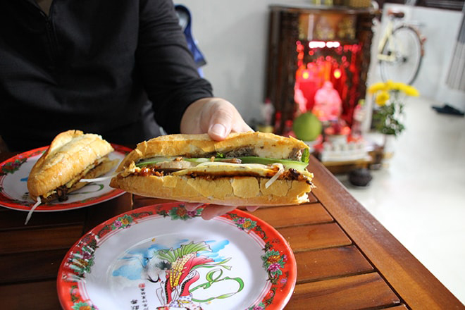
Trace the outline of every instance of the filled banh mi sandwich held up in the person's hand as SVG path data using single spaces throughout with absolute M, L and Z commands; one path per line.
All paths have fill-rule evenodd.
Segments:
M 285 205 L 308 201 L 309 147 L 271 133 L 166 135 L 137 144 L 110 182 L 145 197 L 223 205 Z

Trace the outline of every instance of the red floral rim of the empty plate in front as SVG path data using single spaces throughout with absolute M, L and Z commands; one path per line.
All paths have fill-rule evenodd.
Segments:
M 120 215 L 97 225 L 95 228 L 83 235 L 80 240 L 75 242 L 73 247 L 70 248 L 58 269 L 57 290 L 58 298 L 63 309 L 73 310 L 81 306 L 87 307 L 85 309 L 99 309 L 98 305 L 92 304 L 92 300 L 84 299 L 80 292 L 80 285 L 85 283 L 85 281 L 83 281 L 85 273 L 89 272 L 89 268 L 92 268 L 92 264 L 89 263 L 89 267 L 83 267 L 82 270 L 77 270 L 75 266 L 74 268 L 70 268 L 70 262 L 75 261 L 75 257 L 82 257 L 82 253 L 88 252 L 89 254 L 92 254 L 89 261 L 93 261 L 93 255 L 95 251 L 98 251 L 99 242 L 102 238 L 111 238 L 114 234 L 118 233 L 118 230 L 129 228 L 131 225 L 137 225 L 137 221 L 142 218 L 153 217 L 154 219 L 160 218 L 163 220 L 163 218 L 173 214 L 171 210 L 177 210 L 180 208 L 184 209 L 182 203 L 179 202 L 145 206 L 140 209 L 121 213 Z M 185 209 L 182 213 L 186 214 Z M 192 217 L 197 216 L 199 216 L 199 213 Z M 126 220 L 128 225 L 116 225 L 116 223 L 120 223 L 123 218 Z M 222 220 L 225 219 L 227 221 L 234 222 L 235 225 L 240 222 L 237 220 L 241 219 L 254 222 L 253 228 L 247 230 L 246 233 L 252 233 L 255 237 L 259 237 L 259 239 L 263 240 L 265 243 L 265 246 L 262 249 L 264 256 L 266 256 L 267 253 L 276 254 L 279 252 L 280 257 L 285 261 L 283 268 L 280 269 L 280 274 L 271 275 L 271 273 L 267 271 L 269 276 L 268 281 L 266 282 L 271 283 L 271 286 L 268 291 L 264 292 L 263 296 L 260 297 L 261 302 L 251 305 L 247 309 L 283 309 L 292 296 L 297 280 L 297 264 L 290 245 L 287 243 L 285 238 L 280 235 L 277 230 L 275 230 L 275 228 L 247 212 L 236 209 L 226 213 L 221 216 L 221 218 Z M 185 220 L 186 218 L 177 219 Z M 173 218 L 170 220 L 173 220 Z M 215 220 L 213 219 L 211 221 Z M 239 226 L 237 225 L 237 227 Z M 240 230 L 244 229 L 242 228 Z M 85 266 L 85 261 L 81 260 L 80 264 Z M 263 268 L 266 268 L 265 263 L 263 263 Z

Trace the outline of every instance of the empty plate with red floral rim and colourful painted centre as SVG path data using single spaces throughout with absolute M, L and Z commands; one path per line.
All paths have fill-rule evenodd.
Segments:
M 199 215 L 157 204 L 89 231 L 58 270 L 63 309 L 283 309 L 297 277 L 283 236 L 244 211 Z

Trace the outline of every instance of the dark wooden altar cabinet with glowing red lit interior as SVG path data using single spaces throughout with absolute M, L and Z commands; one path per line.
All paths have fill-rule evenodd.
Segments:
M 286 120 L 299 111 L 314 108 L 316 92 L 325 82 L 333 83 L 340 95 L 340 118 L 347 126 L 354 123 L 354 109 L 365 96 L 374 17 L 366 10 L 273 11 L 266 95 L 282 113 L 277 133 L 286 132 Z

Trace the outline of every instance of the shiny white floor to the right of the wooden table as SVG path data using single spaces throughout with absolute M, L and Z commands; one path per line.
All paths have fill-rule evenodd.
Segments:
M 407 130 L 368 187 L 338 178 L 465 304 L 465 118 L 433 105 L 442 103 L 409 99 Z

